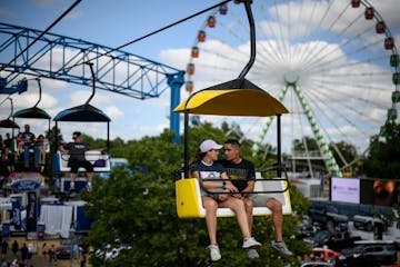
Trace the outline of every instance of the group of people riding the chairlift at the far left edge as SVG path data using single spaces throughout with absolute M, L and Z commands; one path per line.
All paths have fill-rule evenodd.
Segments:
M 23 162 L 23 168 L 34 167 L 40 172 L 44 171 L 46 152 L 49 142 L 44 135 L 36 137 L 30 130 L 30 126 L 24 126 L 24 131 L 18 132 L 16 137 L 11 137 L 9 132 L 3 138 L 0 135 L 1 165 L 7 166 L 9 174 L 14 171 L 18 161 Z M 30 164 L 30 154 L 33 152 L 33 165 Z

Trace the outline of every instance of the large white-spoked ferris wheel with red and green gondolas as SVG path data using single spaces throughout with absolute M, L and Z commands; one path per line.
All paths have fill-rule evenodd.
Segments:
M 234 3 L 212 10 L 199 28 L 187 63 L 188 93 L 236 78 L 248 61 L 249 26 Z M 303 155 L 309 165 L 320 157 L 340 176 L 356 159 L 344 159 L 333 146 L 336 160 L 330 144 L 366 151 L 386 121 L 399 120 L 399 55 L 390 26 L 367 0 L 256 0 L 252 11 L 257 56 L 247 78 L 289 109 L 283 151 Z M 256 140 L 254 151 L 268 152 L 272 118 L 230 122 Z M 307 149 L 306 137 L 317 140 L 318 151 Z M 304 142 L 303 151 L 293 150 L 294 139 Z

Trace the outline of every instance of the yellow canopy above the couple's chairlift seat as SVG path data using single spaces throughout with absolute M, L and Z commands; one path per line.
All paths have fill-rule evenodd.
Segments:
M 243 89 L 244 88 L 244 89 Z M 174 112 L 222 116 L 276 116 L 289 110 L 274 97 L 247 79 L 231 80 L 194 92 Z

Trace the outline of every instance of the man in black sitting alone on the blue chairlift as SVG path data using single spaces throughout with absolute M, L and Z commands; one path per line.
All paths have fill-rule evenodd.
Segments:
M 81 142 L 80 131 L 74 131 L 72 134 L 73 142 L 66 144 L 60 146 L 60 151 L 63 154 L 69 154 L 68 167 L 71 168 L 70 171 L 70 191 L 74 190 L 74 180 L 78 175 L 78 169 L 80 167 L 86 169 L 86 176 L 88 179 L 87 190 L 91 191 L 92 188 L 92 178 L 93 178 L 93 165 L 88 161 L 84 157 L 84 152 L 89 150 L 87 144 Z

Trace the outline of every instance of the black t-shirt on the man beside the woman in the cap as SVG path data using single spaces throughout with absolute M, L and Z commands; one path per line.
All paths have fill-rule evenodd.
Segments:
M 254 165 L 249 160 L 242 159 L 240 164 L 233 164 L 232 161 L 222 159 L 220 162 L 233 186 L 236 186 L 239 191 L 247 187 L 247 180 L 256 179 Z

